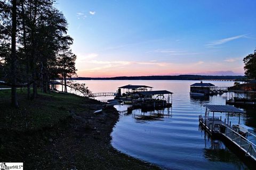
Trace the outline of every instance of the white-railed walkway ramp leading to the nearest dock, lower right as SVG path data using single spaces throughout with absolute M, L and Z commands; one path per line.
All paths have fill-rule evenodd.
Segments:
M 229 140 L 233 141 L 241 149 L 243 149 L 246 152 L 245 155 L 249 155 L 254 160 L 256 160 L 256 145 L 253 142 L 246 139 L 245 137 L 243 137 L 243 135 L 237 133 L 236 131 L 229 128 L 228 126 L 226 126 L 225 133 L 222 133 L 222 134 L 225 135 Z

